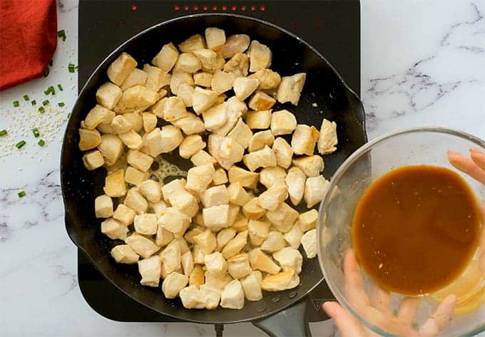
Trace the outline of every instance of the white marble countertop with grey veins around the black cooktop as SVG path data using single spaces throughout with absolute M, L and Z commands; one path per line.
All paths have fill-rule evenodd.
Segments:
M 118 323 L 83 300 L 76 248 L 63 223 L 59 155 L 67 115 L 77 93 L 77 4 L 58 1 L 59 40 L 51 75 L 0 93 L 0 336 L 214 336 L 213 326 Z M 369 138 L 391 130 L 444 125 L 485 138 L 485 0 L 364 1 L 362 100 Z M 39 114 L 49 85 L 64 90 Z M 12 102 L 19 100 L 21 107 Z M 56 103 L 65 102 L 65 108 Z M 46 146 L 39 147 L 31 128 Z M 17 150 L 19 140 L 27 144 Z M 20 190 L 26 197 L 19 198 Z M 331 321 L 311 326 L 331 336 Z M 225 336 L 264 336 L 249 323 Z

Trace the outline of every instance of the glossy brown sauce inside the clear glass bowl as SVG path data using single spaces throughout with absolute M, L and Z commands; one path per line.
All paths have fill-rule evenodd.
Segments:
M 362 195 L 352 239 L 359 263 L 383 289 L 428 294 L 456 279 L 476 251 L 479 203 L 444 167 L 405 166 Z

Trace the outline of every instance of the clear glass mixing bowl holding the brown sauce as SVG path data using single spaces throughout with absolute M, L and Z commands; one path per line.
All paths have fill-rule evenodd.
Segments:
M 455 293 L 456 306 L 451 319 L 444 322 L 446 325 L 441 329 L 439 336 L 474 336 L 485 331 L 485 270 L 479 266 L 479 249 L 465 271 L 451 285 L 434 294 L 415 296 L 415 299 L 412 299 L 415 303 L 419 302 L 412 321 L 407 319 L 404 322 L 402 317 L 397 315 L 399 304 L 404 298 L 400 294 L 385 292 L 384 296 L 390 296 L 390 308 L 387 306 L 389 312 L 384 316 L 379 312 L 379 301 L 382 299 L 378 298 L 379 291 L 375 291 L 377 286 L 369 279 L 364 269 L 359 269 L 356 259 L 352 261 L 356 262 L 357 271 L 362 276 L 362 294 L 367 296 L 366 299 L 372 305 L 364 305 L 355 298 L 353 290 L 349 288 L 349 278 L 346 284 L 344 274 L 346 254 L 352 252 L 352 218 L 357 202 L 374 180 L 394 168 L 405 165 L 446 167 L 463 177 L 479 202 L 485 205 L 485 186 L 456 170 L 447 157 L 449 150 L 467 155 L 472 147 L 485 152 L 485 141 L 444 128 L 402 130 L 376 138 L 360 147 L 332 177 L 327 195 L 320 204 L 317 227 L 320 266 L 328 286 L 339 303 L 364 326 L 380 336 L 420 336 L 419 328 L 428 318 L 436 318 L 436 315 L 432 314 L 440 302 L 447 295 Z M 485 235 L 484 227 L 482 221 L 481 234 Z M 349 269 L 345 270 L 348 276 Z M 389 298 L 386 297 L 385 301 L 389 301 Z M 404 328 L 406 324 L 407 327 Z

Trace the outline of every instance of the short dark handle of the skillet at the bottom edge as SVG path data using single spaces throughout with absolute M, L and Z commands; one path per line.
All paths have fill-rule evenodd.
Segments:
M 307 300 L 302 299 L 273 316 L 252 321 L 252 324 L 265 331 L 270 337 L 311 337 L 305 311 L 307 311 Z

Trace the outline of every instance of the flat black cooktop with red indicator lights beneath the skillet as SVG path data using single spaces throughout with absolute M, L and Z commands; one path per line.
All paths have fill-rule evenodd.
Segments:
M 360 4 L 358 0 L 314 1 L 96 1 L 80 0 L 78 11 L 78 90 L 114 48 L 143 29 L 196 13 L 235 13 L 270 21 L 317 48 L 344 81 L 360 94 Z M 115 321 L 165 321 L 119 291 L 78 251 L 78 282 L 88 304 Z M 325 281 L 308 296 L 306 318 L 327 319 L 320 304 L 333 299 Z

